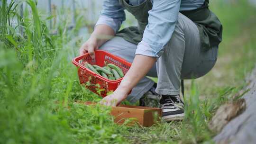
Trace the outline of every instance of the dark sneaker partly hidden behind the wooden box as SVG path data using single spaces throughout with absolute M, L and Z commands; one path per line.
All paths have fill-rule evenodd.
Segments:
M 155 92 L 156 83 L 148 90 L 142 98 L 139 99 L 139 106 L 142 107 L 151 107 L 151 108 L 160 108 L 159 96 Z

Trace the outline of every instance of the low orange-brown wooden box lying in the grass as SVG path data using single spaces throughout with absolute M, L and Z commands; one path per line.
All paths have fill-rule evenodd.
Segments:
M 83 103 L 85 105 L 96 104 L 89 101 Z M 159 117 L 162 117 L 162 110 L 161 108 L 119 105 L 112 107 L 111 115 L 115 117 L 114 122 L 118 124 L 123 124 L 126 119 L 132 118 L 133 121 L 129 124 L 137 122 L 141 126 L 152 126 L 156 121 L 159 121 Z

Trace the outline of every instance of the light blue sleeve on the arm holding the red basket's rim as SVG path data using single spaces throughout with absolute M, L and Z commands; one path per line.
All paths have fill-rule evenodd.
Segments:
M 118 0 L 104 0 L 102 8 L 101 16 L 95 26 L 99 24 L 108 25 L 116 33 L 126 19 L 123 7 Z

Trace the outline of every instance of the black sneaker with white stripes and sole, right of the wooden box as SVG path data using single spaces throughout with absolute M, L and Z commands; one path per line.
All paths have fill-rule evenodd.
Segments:
M 160 99 L 165 121 L 181 121 L 184 117 L 184 104 L 179 95 L 162 95 Z

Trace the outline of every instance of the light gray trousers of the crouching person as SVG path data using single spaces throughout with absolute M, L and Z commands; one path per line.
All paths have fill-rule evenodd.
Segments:
M 102 45 L 100 49 L 132 63 L 137 45 L 116 36 Z M 174 33 L 163 51 L 164 53 L 158 58 L 147 76 L 158 77 L 155 90 L 158 94 L 178 95 L 181 79 L 196 79 L 212 69 L 217 60 L 218 47 L 202 51 L 197 26 L 179 13 Z M 128 101 L 135 103 L 153 85 L 154 81 L 144 77 L 133 88 L 127 98 Z

